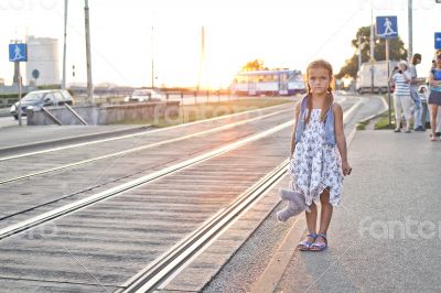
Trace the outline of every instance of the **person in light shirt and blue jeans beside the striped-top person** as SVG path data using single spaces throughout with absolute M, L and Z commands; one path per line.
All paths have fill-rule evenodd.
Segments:
M 415 131 L 424 131 L 424 127 L 422 127 L 421 116 L 422 116 L 422 104 L 420 95 L 418 95 L 418 74 L 416 66 L 421 63 L 421 54 L 413 54 L 411 65 L 409 66 L 410 73 L 410 97 L 413 100 L 413 130 Z

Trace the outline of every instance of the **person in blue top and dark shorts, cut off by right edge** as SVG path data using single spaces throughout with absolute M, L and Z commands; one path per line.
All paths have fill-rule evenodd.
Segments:
M 430 128 L 431 141 L 437 141 L 437 115 L 438 107 L 441 106 L 441 52 L 437 55 L 437 66 L 430 70 L 429 87 L 430 94 L 428 104 L 430 107 Z

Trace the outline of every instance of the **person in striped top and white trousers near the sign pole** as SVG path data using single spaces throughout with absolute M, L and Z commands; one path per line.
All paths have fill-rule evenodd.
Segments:
M 401 61 L 398 64 L 398 70 L 392 72 L 389 78 L 390 83 L 395 83 L 394 90 L 394 109 L 395 109 L 395 121 L 396 127 L 394 132 L 400 132 L 401 124 L 401 109 L 405 112 L 406 118 L 406 133 L 410 133 L 410 119 L 412 101 L 410 98 L 410 73 L 408 70 L 407 63 Z

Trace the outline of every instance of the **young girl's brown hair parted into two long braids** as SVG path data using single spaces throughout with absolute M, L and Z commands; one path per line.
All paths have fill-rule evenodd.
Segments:
M 324 59 L 316 59 L 311 62 L 306 67 L 306 85 L 308 85 L 308 96 L 306 96 L 306 107 L 308 113 L 304 119 L 304 122 L 308 123 L 311 118 L 311 110 L 312 110 L 312 96 L 311 96 L 311 87 L 308 80 L 310 79 L 310 69 L 318 69 L 323 68 L 326 69 L 330 74 L 330 85 L 327 86 L 327 97 L 323 102 L 322 110 L 320 111 L 320 121 L 323 121 L 326 117 L 327 110 L 334 101 L 334 96 L 332 95 L 332 80 L 333 80 L 333 70 L 332 65 L 327 61 Z

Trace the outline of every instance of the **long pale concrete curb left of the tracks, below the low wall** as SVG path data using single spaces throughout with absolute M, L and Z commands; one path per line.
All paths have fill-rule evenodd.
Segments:
M 66 143 L 73 143 L 73 142 L 88 141 L 88 140 L 93 140 L 93 139 L 104 139 L 104 138 L 112 138 L 116 135 L 138 133 L 141 131 L 146 131 L 149 128 L 150 128 L 150 126 L 131 127 L 131 128 L 127 128 L 127 129 L 110 130 L 110 131 L 103 131 L 103 132 L 98 132 L 98 133 L 67 137 L 67 138 L 63 138 L 63 139 L 45 140 L 45 141 L 33 142 L 33 143 L 18 144 L 18 145 L 12 145 L 12 146 L 0 148 L 0 154 L 6 154 L 6 153 L 11 153 L 11 152 L 17 152 L 17 151 L 25 151 L 29 149 L 52 146 L 54 144 L 66 144 Z

